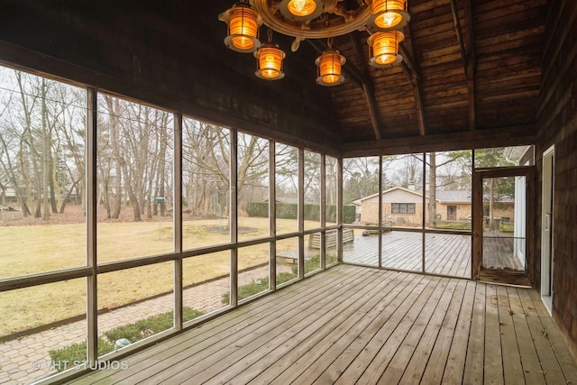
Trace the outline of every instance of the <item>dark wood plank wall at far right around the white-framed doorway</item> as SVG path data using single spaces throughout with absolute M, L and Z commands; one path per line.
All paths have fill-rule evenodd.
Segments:
M 551 0 L 536 147 L 537 193 L 543 151 L 554 145 L 553 316 L 577 356 L 577 2 Z M 541 199 L 536 202 L 536 284 L 540 287 Z

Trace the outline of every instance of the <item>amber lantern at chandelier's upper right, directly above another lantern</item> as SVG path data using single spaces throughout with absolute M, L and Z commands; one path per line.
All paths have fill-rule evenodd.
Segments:
M 371 19 L 367 26 L 372 32 L 398 31 L 409 20 L 407 0 L 372 0 Z

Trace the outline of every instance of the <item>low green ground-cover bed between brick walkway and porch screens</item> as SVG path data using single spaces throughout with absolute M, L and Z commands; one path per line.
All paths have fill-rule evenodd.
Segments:
M 192 307 L 183 307 L 182 319 L 184 322 L 202 316 L 204 312 L 195 310 Z M 98 337 L 98 357 L 114 351 L 116 340 L 125 338 L 131 343 L 142 340 L 151 335 L 155 335 L 169 329 L 173 325 L 173 312 L 162 313 L 141 319 L 133 324 L 115 327 L 104 335 Z M 64 371 L 71 368 L 73 362 L 83 362 L 87 359 L 87 343 L 70 344 L 69 346 L 50 350 L 50 360 L 54 364 L 54 369 Z

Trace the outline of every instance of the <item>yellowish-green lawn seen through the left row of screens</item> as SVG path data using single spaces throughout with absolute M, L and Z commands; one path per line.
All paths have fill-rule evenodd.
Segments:
M 217 220 L 183 224 L 183 243 L 189 248 L 226 243 L 228 235 L 206 231 Z M 252 227 L 241 239 L 269 233 L 268 219 L 240 218 Z M 294 220 L 278 220 L 277 233 L 296 230 Z M 86 265 L 86 225 L 19 225 L 0 227 L 0 278 Z M 97 225 L 98 262 L 154 255 L 173 250 L 172 224 L 163 222 L 103 223 Z M 239 269 L 269 261 L 269 244 L 251 246 L 239 259 Z M 203 282 L 229 273 L 230 252 L 217 252 L 185 260 L 184 284 Z M 98 276 L 98 308 L 114 308 L 169 292 L 173 263 L 163 262 Z M 86 279 L 67 280 L 39 287 L 0 293 L 0 336 L 78 316 L 86 312 Z

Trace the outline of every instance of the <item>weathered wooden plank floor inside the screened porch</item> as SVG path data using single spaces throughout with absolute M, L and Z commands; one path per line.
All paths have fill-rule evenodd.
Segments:
M 74 383 L 565 384 L 533 289 L 338 265 Z

